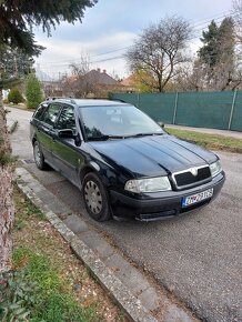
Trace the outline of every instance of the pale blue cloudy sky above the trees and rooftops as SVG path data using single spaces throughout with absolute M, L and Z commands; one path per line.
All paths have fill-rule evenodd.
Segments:
M 37 30 L 37 41 L 47 49 L 36 61 L 52 78 L 80 62 L 81 56 L 89 57 L 91 68 L 125 77 L 129 70 L 122 56 L 151 23 L 168 16 L 185 18 L 194 28 L 191 49 L 195 51 L 202 30 L 212 19 L 220 23 L 231 9 L 232 0 L 99 0 L 85 10 L 82 23 L 62 22 L 51 38 Z

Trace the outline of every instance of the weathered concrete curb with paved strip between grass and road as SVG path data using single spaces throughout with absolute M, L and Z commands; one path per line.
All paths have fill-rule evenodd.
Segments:
M 155 290 L 150 286 L 145 276 L 132 268 L 123 258 L 114 253 L 111 245 L 102 241 L 100 237 L 95 237 L 95 232 L 89 230 L 85 222 L 80 218 L 77 217 L 79 219 L 78 224 L 75 224 L 77 219 L 74 224 L 73 222 L 71 224 L 69 219 L 65 219 L 63 222 L 50 209 L 51 202 L 49 200 L 52 200 L 51 192 L 49 192 L 48 199 L 41 200 L 38 197 L 48 195 L 48 190 L 29 171 L 23 168 L 17 168 L 16 181 L 19 189 L 43 212 L 50 223 L 69 242 L 75 255 L 88 266 L 131 321 L 158 322 L 151 314 L 151 310 L 159 308 L 158 295 Z M 60 208 L 61 204 L 58 204 L 58 207 Z M 122 274 L 113 272 L 112 266 L 117 263 L 120 265 Z M 162 306 L 164 306 L 162 321 L 194 321 L 183 309 L 171 303 L 168 299 L 162 300 Z

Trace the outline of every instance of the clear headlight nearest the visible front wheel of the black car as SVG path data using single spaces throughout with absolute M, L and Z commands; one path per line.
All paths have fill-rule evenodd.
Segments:
M 131 192 L 158 192 L 171 190 L 171 184 L 168 177 L 158 177 L 150 179 L 129 180 L 125 183 L 124 190 Z

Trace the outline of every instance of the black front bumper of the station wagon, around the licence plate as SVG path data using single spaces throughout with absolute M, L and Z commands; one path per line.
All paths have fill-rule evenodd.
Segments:
M 153 198 L 151 198 L 151 195 L 145 198 L 129 197 L 111 190 L 110 197 L 113 217 L 133 218 L 140 221 L 155 221 L 177 217 L 199 209 L 214 200 L 222 189 L 224 181 L 225 174 L 224 172 L 221 172 L 209 183 L 183 191 L 153 193 Z M 213 188 L 212 198 L 182 208 L 182 198 L 200 193 L 211 188 Z

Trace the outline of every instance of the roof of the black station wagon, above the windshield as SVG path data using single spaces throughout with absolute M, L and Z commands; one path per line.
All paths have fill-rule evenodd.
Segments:
M 78 107 L 110 107 L 110 105 L 128 105 L 129 103 L 122 101 L 111 101 L 104 99 L 72 99 L 72 98 L 51 98 L 47 100 L 48 102 L 69 102 Z

